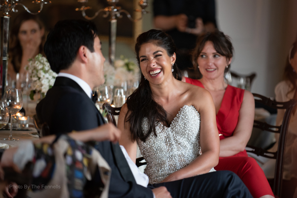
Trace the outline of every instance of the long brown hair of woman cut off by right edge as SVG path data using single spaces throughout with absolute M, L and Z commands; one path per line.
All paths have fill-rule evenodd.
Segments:
M 286 61 L 286 66 L 285 66 L 284 79 L 285 79 L 285 81 L 290 82 L 293 85 L 292 89 L 287 92 L 287 95 L 290 92 L 293 92 L 294 90 L 296 90 L 296 88 L 297 88 L 297 82 L 296 82 L 297 81 L 297 74 L 296 74 L 297 71 L 294 71 L 294 68 L 292 67 L 290 60 L 289 60 L 289 59 L 294 58 L 294 56 L 296 55 L 296 52 L 297 52 L 297 41 L 293 43 L 293 45 L 290 49 L 290 52 L 289 52 L 289 55 L 288 55 L 288 58 Z

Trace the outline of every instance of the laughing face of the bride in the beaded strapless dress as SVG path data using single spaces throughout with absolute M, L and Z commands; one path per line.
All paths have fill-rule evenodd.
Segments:
M 168 56 L 166 49 L 154 43 L 145 43 L 139 50 L 140 69 L 143 76 L 152 84 L 160 84 L 173 77 L 171 69 L 176 60 L 175 53 Z

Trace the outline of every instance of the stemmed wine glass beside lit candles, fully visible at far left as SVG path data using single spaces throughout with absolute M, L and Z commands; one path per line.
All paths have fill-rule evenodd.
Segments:
M 12 138 L 12 114 L 17 113 L 23 107 L 23 96 L 20 89 L 8 89 L 6 91 L 6 99 L 8 112 L 10 113 L 10 136 L 3 140 L 18 140 Z

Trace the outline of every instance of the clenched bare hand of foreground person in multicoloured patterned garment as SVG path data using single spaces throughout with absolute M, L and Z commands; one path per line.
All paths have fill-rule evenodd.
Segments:
M 104 124 L 95 129 L 93 137 L 95 141 L 111 141 L 116 143 L 121 137 L 121 131 L 113 124 Z

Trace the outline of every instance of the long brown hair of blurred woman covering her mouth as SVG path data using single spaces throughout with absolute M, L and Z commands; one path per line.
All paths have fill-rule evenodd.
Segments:
M 27 20 L 34 20 L 39 25 L 40 29 L 45 27 L 37 15 L 31 15 L 27 12 L 24 12 L 18 15 L 13 21 L 11 31 L 10 31 L 10 43 L 9 43 L 10 48 L 9 48 L 8 55 L 9 55 L 10 62 L 12 63 L 13 69 L 15 70 L 16 73 L 18 73 L 20 70 L 20 64 L 23 56 L 22 47 L 18 39 L 18 33 L 22 23 Z M 41 44 L 39 46 L 39 53 L 41 53 L 43 56 L 45 56 L 43 52 L 43 45 L 45 43 L 45 40 L 46 40 L 46 35 L 44 34 L 42 36 Z

